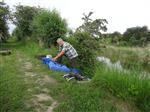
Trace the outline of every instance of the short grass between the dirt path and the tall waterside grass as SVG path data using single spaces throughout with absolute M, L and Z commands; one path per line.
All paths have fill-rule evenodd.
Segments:
M 32 43 L 28 46 L 20 48 L 22 52 L 27 57 L 33 58 L 35 54 L 39 52 L 42 54 L 52 54 L 54 55 L 56 51 L 55 48 L 51 49 L 40 49 L 37 44 Z M 39 64 L 35 59 L 32 59 L 34 64 Z M 76 82 L 68 83 L 62 77 L 60 77 L 60 72 L 53 72 L 48 70 L 46 67 L 41 69 L 36 69 L 35 72 L 47 72 L 51 77 L 58 81 L 57 86 L 49 86 L 50 95 L 61 102 L 58 108 L 55 109 L 56 112 L 98 112 L 98 111 L 108 111 L 117 112 L 117 108 L 110 103 L 104 101 L 104 91 L 90 87 L 88 84 L 78 84 Z M 94 92 L 93 92 L 94 91 Z M 105 103 L 104 103 L 105 102 Z

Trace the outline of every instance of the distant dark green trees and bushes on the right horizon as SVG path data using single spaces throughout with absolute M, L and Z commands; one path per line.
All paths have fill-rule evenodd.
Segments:
M 113 32 L 110 34 L 103 34 L 103 36 L 105 44 L 144 47 L 150 43 L 150 30 L 147 26 L 131 27 L 128 28 L 123 34 Z

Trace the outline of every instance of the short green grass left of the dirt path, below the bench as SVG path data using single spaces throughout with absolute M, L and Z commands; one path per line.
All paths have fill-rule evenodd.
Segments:
M 24 106 L 25 85 L 15 53 L 0 56 L 0 112 L 16 112 Z

